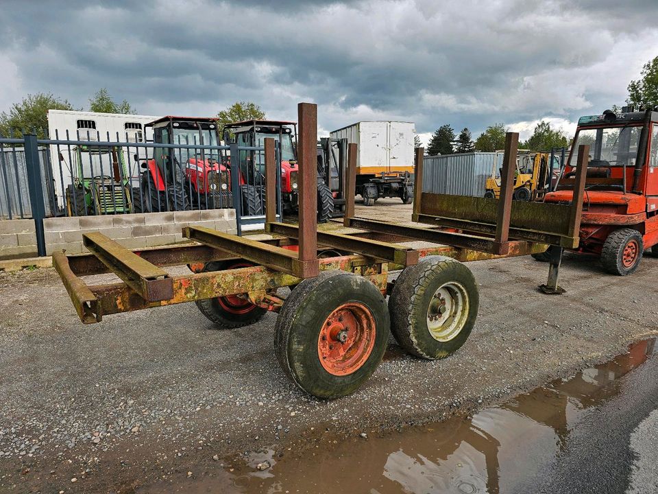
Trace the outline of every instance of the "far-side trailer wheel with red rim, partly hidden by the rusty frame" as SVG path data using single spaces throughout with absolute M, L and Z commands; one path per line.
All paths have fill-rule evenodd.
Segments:
M 238 268 L 249 268 L 254 264 L 246 261 L 217 261 L 207 263 L 200 272 L 222 271 Z M 258 307 L 253 303 L 235 295 L 208 298 L 195 302 L 199 311 L 220 329 L 238 328 L 258 322 L 267 309 Z

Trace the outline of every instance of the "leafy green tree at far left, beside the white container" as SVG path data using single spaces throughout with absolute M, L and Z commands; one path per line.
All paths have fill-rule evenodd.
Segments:
M 0 115 L 0 134 L 8 137 L 10 132 L 36 132 L 38 139 L 47 137 L 48 110 L 74 110 L 66 99 L 52 93 L 27 95 L 20 103 L 14 103 L 9 113 Z

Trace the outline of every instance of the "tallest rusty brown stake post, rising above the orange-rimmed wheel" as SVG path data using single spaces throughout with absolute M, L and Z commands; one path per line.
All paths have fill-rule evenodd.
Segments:
M 304 278 L 319 274 L 317 260 L 317 105 L 297 105 L 300 134 L 297 139 L 299 163 L 299 261 Z

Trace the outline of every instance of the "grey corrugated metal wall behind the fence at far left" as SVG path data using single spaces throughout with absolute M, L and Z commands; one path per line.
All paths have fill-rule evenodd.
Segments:
M 43 200 L 46 215 L 52 216 L 56 207 L 51 203 L 54 197 L 53 179 L 48 151 L 39 149 L 41 176 L 43 178 Z M 50 179 L 48 178 L 50 177 Z M 23 148 L 3 148 L 0 152 L 0 220 L 17 220 L 32 217 L 27 187 L 27 167 Z

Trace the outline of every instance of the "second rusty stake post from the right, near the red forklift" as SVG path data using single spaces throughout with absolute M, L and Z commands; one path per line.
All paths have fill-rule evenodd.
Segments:
M 505 255 L 509 252 L 509 219 L 512 212 L 512 196 L 514 193 L 514 172 L 516 171 L 516 156 L 519 148 L 519 134 L 505 134 L 505 154 L 502 158 L 502 173 L 500 176 L 500 198 L 498 199 L 498 215 L 496 217 L 496 235 L 493 237 L 494 254 Z

